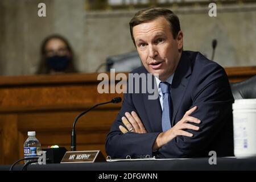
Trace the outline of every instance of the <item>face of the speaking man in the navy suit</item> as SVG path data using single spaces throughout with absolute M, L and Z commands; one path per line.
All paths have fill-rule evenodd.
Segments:
M 148 72 L 164 81 L 174 73 L 181 56 L 183 33 L 174 39 L 169 22 L 160 16 L 133 27 L 135 44 Z

